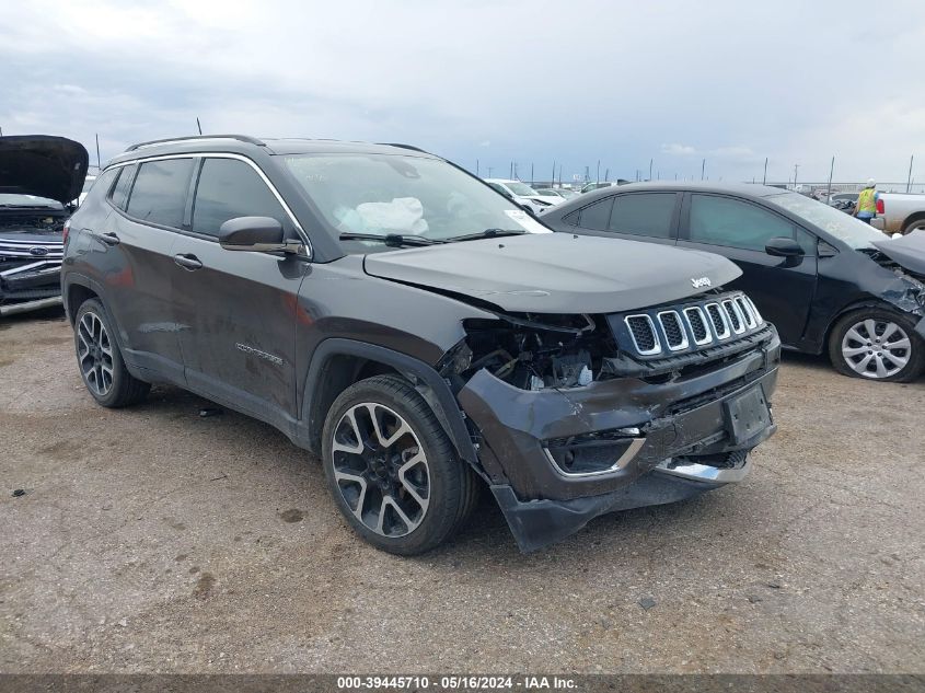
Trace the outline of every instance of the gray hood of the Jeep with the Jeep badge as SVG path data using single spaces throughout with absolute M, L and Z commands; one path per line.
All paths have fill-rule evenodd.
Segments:
M 570 233 L 377 253 L 366 257 L 365 267 L 374 277 L 524 313 L 635 310 L 701 293 L 742 274 L 712 253 Z

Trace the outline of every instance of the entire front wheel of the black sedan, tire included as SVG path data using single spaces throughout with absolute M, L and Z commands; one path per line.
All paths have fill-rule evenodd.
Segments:
M 845 376 L 910 382 L 925 369 L 925 343 L 904 315 L 867 308 L 852 311 L 835 324 L 829 357 Z

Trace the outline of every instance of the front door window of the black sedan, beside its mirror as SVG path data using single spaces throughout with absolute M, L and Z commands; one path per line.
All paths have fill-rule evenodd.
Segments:
M 794 224 L 756 205 L 715 195 L 691 196 L 690 240 L 764 251 L 777 236 L 794 238 Z

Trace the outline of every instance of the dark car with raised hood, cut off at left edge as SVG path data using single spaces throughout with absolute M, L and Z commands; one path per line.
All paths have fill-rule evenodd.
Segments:
M 86 165 L 62 137 L 0 137 L 0 315 L 60 303 L 61 234 Z

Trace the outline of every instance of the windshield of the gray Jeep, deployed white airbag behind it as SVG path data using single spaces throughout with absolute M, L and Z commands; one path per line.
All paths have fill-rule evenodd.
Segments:
M 342 234 L 442 241 L 487 229 L 551 233 L 509 199 L 439 159 L 298 154 L 285 161 L 325 220 Z M 374 240 L 342 242 L 347 249 L 363 251 L 377 244 Z

